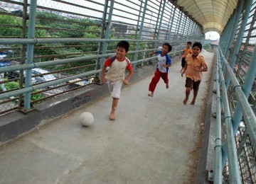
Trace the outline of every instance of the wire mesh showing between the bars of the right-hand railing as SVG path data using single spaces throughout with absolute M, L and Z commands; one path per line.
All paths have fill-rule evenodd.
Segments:
M 240 51 L 236 57 L 234 73 L 237 77 L 240 85 L 242 86 L 245 82 L 247 76 L 247 71 L 249 70 L 250 62 L 252 61 L 252 54 L 255 52 L 256 44 L 256 1 L 253 1 L 252 7 L 250 9 L 249 18 L 247 19 L 247 24 L 245 26 L 245 32 L 242 36 L 242 43 L 240 46 Z M 230 56 L 228 61 L 232 62 L 235 43 L 238 41 L 238 35 L 240 33 L 240 27 L 242 25 L 243 16 L 245 11 L 240 15 L 240 21 L 238 23 L 238 28 L 235 31 L 235 38 L 233 40 L 233 45 L 230 49 Z M 238 105 L 238 99 L 235 96 L 234 86 L 230 84 L 228 88 L 228 98 L 230 103 L 231 114 L 235 113 L 235 108 Z M 248 101 L 252 107 L 252 110 L 256 114 L 256 81 L 252 84 L 250 95 Z M 250 134 L 247 132 L 246 122 L 241 120 L 238 132 L 235 134 L 235 144 L 237 146 L 238 161 L 240 168 L 240 176 L 242 183 L 256 183 L 256 148 L 252 143 Z M 228 163 L 223 171 L 223 183 L 230 183 L 228 180 Z

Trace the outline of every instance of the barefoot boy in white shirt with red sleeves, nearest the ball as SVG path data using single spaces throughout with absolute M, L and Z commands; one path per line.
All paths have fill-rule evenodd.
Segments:
M 122 84 L 129 84 L 129 79 L 133 74 L 132 64 L 126 56 L 129 50 L 129 42 L 120 41 L 117 43 L 116 55 L 106 59 L 104 66 L 102 67 L 102 84 L 107 84 L 110 89 L 112 100 L 112 109 L 110 113 L 110 120 L 115 120 L 114 112 L 117 109 L 118 100 L 120 98 L 120 92 Z M 110 70 L 106 73 L 106 68 L 110 67 Z M 126 69 L 129 74 L 125 77 Z

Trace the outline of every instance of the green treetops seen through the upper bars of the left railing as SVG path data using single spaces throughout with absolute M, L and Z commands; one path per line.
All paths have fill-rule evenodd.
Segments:
M 36 20 L 36 38 L 100 38 L 102 30 L 100 21 L 92 21 L 89 18 L 73 18 L 62 16 L 58 13 L 38 11 Z M 22 25 L 22 18 L 14 16 L 0 16 L 0 21 L 8 25 Z M 28 23 L 28 21 L 27 21 Z M 26 31 L 26 34 L 28 30 Z M 21 28 L 0 28 L 1 36 L 21 36 Z M 65 47 L 68 45 L 68 47 Z M 74 45 L 74 47 L 70 47 Z M 11 47 L 20 47 L 20 45 L 11 45 Z M 40 62 L 46 62 L 54 59 L 67 59 L 72 57 L 85 56 L 87 52 L 96 52 L 98 42 L 66 42 L 56 44 L 37 44 L 34 48 L 34 55 L 41 56 Z M 114 45 L 115 49 L 115 45 Z M 17 52 L 18 53 L 18 52 Z M 19 53 L 16 55 L 19 57 Z M 34 59 L 33 62 L 38 62 Z M 70 67 L 79 67 L 90 63 L 70 63 L 54 66 L 53 69 L 69 69 Z M 89 68 L 87 68 L 89 69 Z M 72 71 L 68 71 L 70 73 Z M 74 71 L 77 72 L 77 71 Z

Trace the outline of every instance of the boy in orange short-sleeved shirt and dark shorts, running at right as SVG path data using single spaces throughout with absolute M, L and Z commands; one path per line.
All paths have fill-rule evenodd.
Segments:
M 196 102 L 196 96 L 198 94 L 199 85 L 202 79 L 202 71 L 207 71 L 206 60 L 203 56 L 199 55 L 202 50 L 201 42 L 195 42 L 192 46 L 192 55 L 188 54 L 186 57 L 186 64 L 181 71 L 181 76 L 186 73 L 186 98 L 183 100 L 183 104 L 186 105 L 190 92 L 193 89 L 193 100 L 191 105 Z

